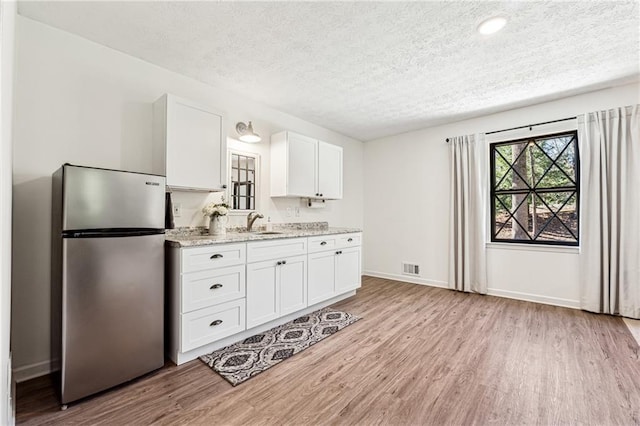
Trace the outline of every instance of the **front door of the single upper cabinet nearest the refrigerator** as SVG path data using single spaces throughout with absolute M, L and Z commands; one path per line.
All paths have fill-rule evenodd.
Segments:
M 167 99 L 167 185 L 192 189 L 222 187 L 222 115 L 188 101 Z

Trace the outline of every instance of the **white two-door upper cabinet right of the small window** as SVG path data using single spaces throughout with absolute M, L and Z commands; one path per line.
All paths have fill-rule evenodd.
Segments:
M 293 132 L 271 136 L 271 196 L 342 198 L 342 147 Z

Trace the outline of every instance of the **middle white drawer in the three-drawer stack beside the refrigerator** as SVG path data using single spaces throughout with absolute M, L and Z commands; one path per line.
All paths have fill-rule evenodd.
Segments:
M 244 265 L 192 272 L 182 276 L 182 313 L 245 296 Z

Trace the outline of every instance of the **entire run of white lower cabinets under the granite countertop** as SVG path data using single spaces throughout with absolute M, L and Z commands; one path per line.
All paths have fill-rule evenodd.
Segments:
M 182 364 L 359 288 L 361 241 L 349 233 L 169 248 L 170 358 Z

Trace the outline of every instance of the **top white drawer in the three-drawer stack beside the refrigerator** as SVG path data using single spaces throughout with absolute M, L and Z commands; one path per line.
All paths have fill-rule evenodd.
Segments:
M 182 249 L 182 273 L 243 264 L 246 249 L 244 243 Z

